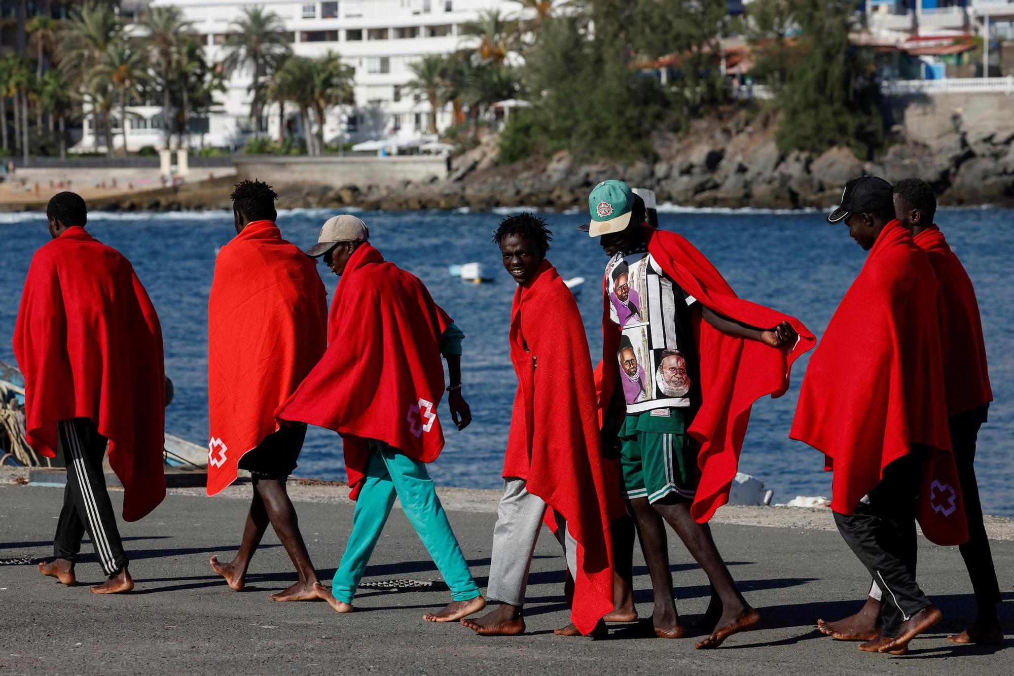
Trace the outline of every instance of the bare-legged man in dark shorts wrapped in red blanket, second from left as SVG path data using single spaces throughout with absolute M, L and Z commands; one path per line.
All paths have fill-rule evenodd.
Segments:
M 323 354 L 328 294 L 315 261 L 282 239 L 271 186 L 242 181 L 231 198 L 236 236 L 218 253 L 208 299 L 208 494 L 244 469 L 254 496 L 239 551 L 228 563 L 212 556 L 211 566 L 243 589 L 271 524 L 299 576 L 271 600 L 304 601 L 317 597 L 318 580 L 285 484 L 306 425 L 278 429 L 275 409 Z

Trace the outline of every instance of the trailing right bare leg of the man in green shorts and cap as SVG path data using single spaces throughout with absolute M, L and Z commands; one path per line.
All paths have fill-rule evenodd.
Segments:
M 683 541 L 694 559 L 708 574 L 715 592 L 722 600 L 722 616 L 712 634 L 697 644 L 697 648 L 718 648 L 727 637 L 739 631 L 756 628 L 760 614 L 753 610 L 736 589 L 711 531 L 694 521 L 687 502 L 655 502 L 652 505 Z

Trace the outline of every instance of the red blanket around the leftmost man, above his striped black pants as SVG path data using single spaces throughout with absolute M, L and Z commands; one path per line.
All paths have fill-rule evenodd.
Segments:
M 126 521 L 165 497 L 162 330 L 120 252 L 70 227 L 31 259 L 14 327 L 28 444 L 53 458 L 57 423 L 89 418 L 110 440 Z

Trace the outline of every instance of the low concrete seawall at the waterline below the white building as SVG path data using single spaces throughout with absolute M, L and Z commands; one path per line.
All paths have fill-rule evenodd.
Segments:
M 235 158 L 238 179 L 259 179 L 276 189 L 330 186 L 342 188 L 354 185 L 395 187 L 405 181 L 422 182 L 443 179 L 447 164 L 443 157 L 427 156 L 328 156 L 277 157 L 249 156 Z

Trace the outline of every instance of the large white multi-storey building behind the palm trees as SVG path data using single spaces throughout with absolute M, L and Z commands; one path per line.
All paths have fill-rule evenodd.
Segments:
M 250 3 L 235 0 L 153 0 L 151 5 L 173 5 L 193 21 L 194 30 L 206 45 L 211 63 L 224 61 L 224 47 L 230 24 Z M 468 44 L 462 26 L 475 21 L 482 10 L 498 9 L 516 15 L 521 5 L 510 0 L 270 0 L 257 3 L 277 14 L 284 23 L 292 51 L 298 56 L 320 57 L 329 50 L 355 69 L 355 107 L 332 110 L 327 116 L 324 141 L 357 143 L 390 140 L 405 144 L 429 131 L 430 106 L 425 95 L 405 89 L 413 79 L 409 65 L 431 54 L 450 54 Z M 249 91 L 252 69 L 239 69 L 221 96 L 221 106 L 208 116 L 203 137 L 192 133 L 192 145 L 239 148 L 254 133 L 249 119 Z M 155 102 L 152 102 L 155 103 Z M 279 137 L 278 107 L 265 111 L 267 128 L 262 134 Z M 299 114 L 286 107 L 287 118 L 298 127 Z M 130 109 L 128 144 L 134 151 L 143 146 L 164 144 L 161 108 Z M 437 127 L 451 123 L 449 107 L 437 114 Z M 114 146 L 123 143 L 119 121 L 115 122 Z M 98 145 L 104 147 L 99 132 Z M 95 146 L 91 119 L 84 121 L 83 140 L 78 148 Z

